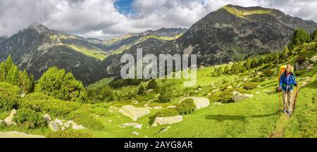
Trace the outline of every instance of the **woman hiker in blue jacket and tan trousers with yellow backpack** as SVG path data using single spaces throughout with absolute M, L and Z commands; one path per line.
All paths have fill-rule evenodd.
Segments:
M 283 98 L 283 113 L 287 113 L 287 116 L 290 116 L 292 113 L 292 90 L 293 85 L 297 87 L 297 82 L 295 80 L 295 75 L 291 71 L 292 65 L 287 65 L 285 72 L 280 76 L 279 89 L 282 89 L 282 98 Z

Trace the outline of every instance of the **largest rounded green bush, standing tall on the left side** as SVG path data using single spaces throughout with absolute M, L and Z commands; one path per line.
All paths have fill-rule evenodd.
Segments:
M 71 72 L 66 74 L 65 70 L 56 67 L 49 68 L 44 72 L 35 85 L 35 91 L 64 101 L 85 103 L 87 100 L 87 92 L 82 82 L 75 80 Z

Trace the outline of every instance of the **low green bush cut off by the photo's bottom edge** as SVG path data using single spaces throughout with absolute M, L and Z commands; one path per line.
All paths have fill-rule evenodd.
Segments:
M 48 132 L 46 138 L 93 138 L 94 135 L 75 129 L 66 129 L 64 131 Z

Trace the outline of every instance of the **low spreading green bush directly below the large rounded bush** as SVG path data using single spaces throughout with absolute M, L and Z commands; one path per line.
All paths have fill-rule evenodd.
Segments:
M 81 104 L 77 102 L 61 101 L 58 99 L 22 100 L 18 103 L 18 108 L 28 108 L 54 116 L 68 115 L 73 110 L 80 108 L 80 106 Z

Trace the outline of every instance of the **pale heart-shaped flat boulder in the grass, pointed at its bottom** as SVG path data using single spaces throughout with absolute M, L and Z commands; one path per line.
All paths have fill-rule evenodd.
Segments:
M 138 118 L 149 114 L 150 110 L 148 108 L 135 108 L 135 106 L 126 105 L 119 109 L 119 113 L 128 116 L 133 121 L 137 121 Z

